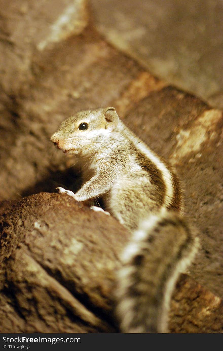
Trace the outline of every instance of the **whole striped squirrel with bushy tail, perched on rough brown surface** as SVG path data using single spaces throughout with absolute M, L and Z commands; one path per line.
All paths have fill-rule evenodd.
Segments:
M 106 213 L 132 232 L 115 291 L 120 330 L 168 332 L 176 280 L 198 249 L 175 171 L 124 125 L 114 107 L 78 112 L 51 141 L 77 155 L 88 177 L 75 194 L 61 187 L 59 192 L 77 201 L 101 197 Z

